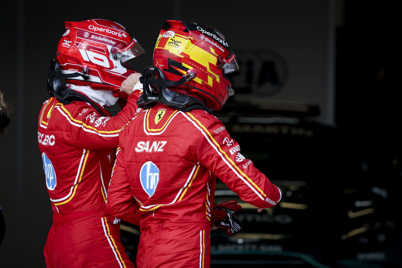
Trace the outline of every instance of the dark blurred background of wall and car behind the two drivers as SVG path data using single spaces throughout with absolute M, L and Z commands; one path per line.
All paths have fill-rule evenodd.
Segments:
M 307 209 L 278 206 L 258 218 L 244 208 L 242 241 L 212 235 L 213 265 L 400 267 L 396 6 L 335 0 L 0 2 L 0 88 L 14 106 L 0 136 L 1 267 L 45 266 L 51 207 L 37 116 L 64 21 L 92 18 L 122 24 L 143 45 L 131 63 L 139 71 L 152 64 L 167 19 L 215 27 L 238 55 L 235 95 L 215 115 L 284 204 Z M 218 188 L 215 203 L 236 199 Z M 360 210 L 370 212 L 350 216 Z

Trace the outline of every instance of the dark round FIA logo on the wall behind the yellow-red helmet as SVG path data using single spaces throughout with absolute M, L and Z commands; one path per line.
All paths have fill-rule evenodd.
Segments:
M 281 91 L 288 79 L 285 59 L 273 50 L 236 51 L 240 70 L 227 74 L 236 95 L 270 97 Z

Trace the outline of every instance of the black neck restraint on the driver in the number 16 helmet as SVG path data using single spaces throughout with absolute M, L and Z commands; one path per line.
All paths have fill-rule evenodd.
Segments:
M 95 103 L 88 97 L 74 91 L 72 89 L 68 89 L 66 85 L 60 81 L 60 78 L 73 78 L 82 76 L 85 80 L 89 79 L 88 75 L 81 74 L 79 72 L 74 72 L 72 74 L 63 74 L 59 68 L 59 63 L 56 59 L 52 59 L 49 67 L 49 74 L 47 76 L 47 91 L 53 97 L 56 97 L 61 103 L 69 104 L 73 101 L 84 101 L 89 103 L 94 109 L 102 116 L 105 114 L 96 106 Z

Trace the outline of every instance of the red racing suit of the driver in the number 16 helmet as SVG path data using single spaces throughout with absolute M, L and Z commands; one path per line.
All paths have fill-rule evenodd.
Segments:
M 120 241 L 119 219 L 106 208 L 121 128 L 136 113 L 139 94 L 111 117 L 84 101 L 43 103 L 38 142 L 53 225 L 44 248 L 47 267 L 134 267 Z M 109 116 L 108 116 L 109 115 Z

